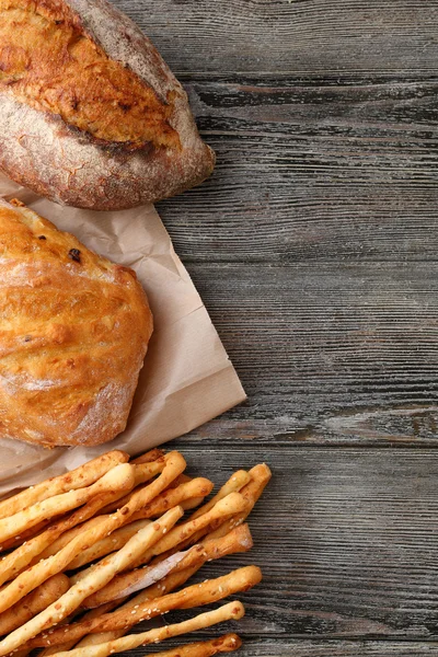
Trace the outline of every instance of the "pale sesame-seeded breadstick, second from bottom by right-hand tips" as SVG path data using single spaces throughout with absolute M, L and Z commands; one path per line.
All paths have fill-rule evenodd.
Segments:
M 138 648 L 141 645 L 149 645 L 151 643 L 159 643 L 172 636 L 181 636 L 189 632 L 196 632 L 206 627 L 211 627 L 218 623 L 226 621 L 238 621 L 245 613 L 244 607 L 241 602 L 229 602 L 216 609 L 215 611 L 207 611 L 199 615 L 184 621 L 182 623 L 175 623 L 173 625 L 166 625 L 165 627 L 158 627 L 142 632 L 140 634 L 128 634 L 114 641 L 110 641 L 97 646 L 85 646 L 83 648 L 73 648 L 68 653 L 55 653 L 55 657 L 107 657 L 114 653 L 122 653 L 124 650 L 130 650 Z

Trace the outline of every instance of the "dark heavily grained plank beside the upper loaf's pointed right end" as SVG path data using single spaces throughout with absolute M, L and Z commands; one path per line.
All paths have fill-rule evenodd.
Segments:
M 159 204 L 185 262 L 437 258 L 438 80 L 201 81 L 189 93 L 218 164 Z

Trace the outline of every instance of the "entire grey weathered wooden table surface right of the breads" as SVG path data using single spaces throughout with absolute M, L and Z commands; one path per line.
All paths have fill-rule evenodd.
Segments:
M 437 657 L 438 0 L 117 4 L 217 151 L 158 209 L 249 395 L 173 445 L 274 471 L 203 578 L 263 566 L 242 657 Z

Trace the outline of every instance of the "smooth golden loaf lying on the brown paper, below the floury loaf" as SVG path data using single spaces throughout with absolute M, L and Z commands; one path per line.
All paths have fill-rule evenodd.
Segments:
M 127 422 L 152 333 L 131 269 L 0 200 L 0 437 L 96 445 Z

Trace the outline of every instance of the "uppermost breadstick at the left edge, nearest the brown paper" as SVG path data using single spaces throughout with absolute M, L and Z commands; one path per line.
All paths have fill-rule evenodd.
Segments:
M 118 463 L 126 463 L 128 460 L 129 454 L 126 452 L 113 450 L 84 463 L 84 465 L 80 465 L 71 472 L 25 488 L 21 493 L 0 502 L 0 518 L 13 516 L 37 502 L 47 499 L 47 497 L 59 495 L 66 491 L 90 486 L 112 468 L 115 468 Z

